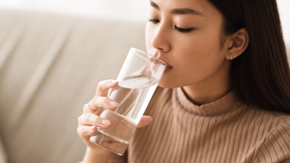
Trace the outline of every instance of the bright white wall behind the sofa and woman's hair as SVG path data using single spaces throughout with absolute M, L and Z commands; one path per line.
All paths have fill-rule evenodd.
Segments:
M 277 2 L 284 40 L 289 45 L 290 1 L 277 0 Z M 149 0 L 0 0 L 1 7 L 146 21 L 148 19 Z

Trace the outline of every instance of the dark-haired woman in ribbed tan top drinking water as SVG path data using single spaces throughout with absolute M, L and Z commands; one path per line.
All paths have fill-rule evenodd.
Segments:
M 275 0 L 152 0 L 146 48 L 166 71 L 127 152 L 89 141 L 117 81 L 79 117 L 84 162 L 290 162 L 290 71 Z M 146 126 L 147 124 L 150 125 Z M 146 127 L 144 127 L 146 126 Z

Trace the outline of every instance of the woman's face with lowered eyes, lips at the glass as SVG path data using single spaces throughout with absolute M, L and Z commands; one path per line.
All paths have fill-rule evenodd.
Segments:
M 159 86 L 194 85 L 229 71 L 226 48 L 220 48 L 221 23 L 221 14 L 206 0 L 151 1 L 146 49 L 170 66 Z

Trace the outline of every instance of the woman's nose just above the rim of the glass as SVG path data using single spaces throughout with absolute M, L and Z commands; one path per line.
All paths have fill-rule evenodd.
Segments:
M 156 30 L 155 35 L 151 39 L 150 43 L 151 46 L 154 49 L 168 52 L 170 50 L 170 44 L 169 44 L 169 34 L 166 32 L 166 27 L 163 25 L 160 25 L 159 28 Z

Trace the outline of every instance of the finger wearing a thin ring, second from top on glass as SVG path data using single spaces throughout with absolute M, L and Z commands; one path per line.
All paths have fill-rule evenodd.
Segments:
M 102 110 L 103 108 L 113 110 L 113 109 L 116 109 L 118 106 L 119 104 L 116 101 L 108 97 L 95 96 L 93 100 L 90 101 L 89 108 L 93 110 L 98 110 L 98 109 Z

